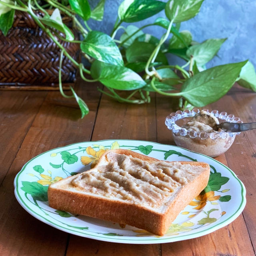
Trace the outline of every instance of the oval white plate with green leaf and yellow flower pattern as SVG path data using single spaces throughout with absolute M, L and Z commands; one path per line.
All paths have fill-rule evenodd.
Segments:
M 206 193 L 180 212 L 164 236 L 49 207 L 49 184 L 90 169 L 90 165 L 110 148 L 130 149 L 160 160 L 206 162 L 211 166 Z M 129 244 L 166 243 L 209 234 L 236 219 L 246 204 L 244 185 L 220 162 L 176 146 L 140 140 L 102 140 L 55 148 L 28 161 L 17 174 L 14 186 L 18 202 L 38 220 L 70 234 Z

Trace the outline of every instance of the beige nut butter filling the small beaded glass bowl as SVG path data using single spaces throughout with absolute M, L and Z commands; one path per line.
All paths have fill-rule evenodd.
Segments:
M 218 133 L 222 132 L 222 130 L 216 129 L 217 124 L 219 124 L 218 118 L 216 118 L 213 114 L 201 110 L 199 114 L 196 114 L 182 127 L 188 131 L 195 131 L 197 134 L 200 134 L 201 132 L 212 134 L 211 138 L 202 139 L 199 136 L 190 138 L 188 135 L 174 135 L 174 141 L 177 146 L 182 148 L 187 148 L 194 152 L 205 154 L 211 157 L 218 156 L 230 148 L 234 142 L 235 136 L 224 136 L 223 138 L 220 138 Z

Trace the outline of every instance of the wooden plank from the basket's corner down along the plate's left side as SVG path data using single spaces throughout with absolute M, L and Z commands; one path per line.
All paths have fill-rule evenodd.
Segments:
M 14 198 L 13 180 L 32 157 L 52 148 L 90 140 L 100 93 L 96 86 L 83 87 L 80 83 L 78 94 L 87 102 L 90 114 L 80 119 L 80 110 L 74 101 L 70 103 L 70 100 L 62 98 L 58 92 L 49 92 L 4 178 L 0 187 L 0 200 L 6 200 L 4 208 L 2 207 L 4 210 L 1 210 L 0 244 L 4 252 L 1 255 L 50 253 L 57 256 L 64 254 L 66 250 L 69 234 L 48 226 L 25 212 Z M 34 111 L 29 108 L 28 103 L 25 103 L 24 108 L 29 109 L 29 116 Z M 54 246 L 56 250 L 52 248 Z

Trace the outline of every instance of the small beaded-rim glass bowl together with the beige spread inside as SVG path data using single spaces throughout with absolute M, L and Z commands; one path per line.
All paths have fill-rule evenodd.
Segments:
M 236 134 L 224 132 L 217 128 L 220 122 L 241 123 L 240 118 L 228 115 L 218 110 L 193 109 L 177 111 L 166 117 L 166 126 L 172 130 L 174 142 L 177 146 L 194 152 L 215 157 L 223 154 L 230 148 Z

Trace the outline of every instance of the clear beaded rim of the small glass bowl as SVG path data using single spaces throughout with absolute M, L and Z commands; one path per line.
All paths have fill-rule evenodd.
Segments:
M 227 114 L 226 112 L 221 112 L 219 113 L 218 110 L 212 110 L 210 112 L 210 110 L 208 109 L 203 109 L 204 111 L 213 114 L 215 117 L 221 119 L 221 120 L 225 120 L 226 122 L 232 122 L 232 123 L 242 123 L 242 121 L 240 120 L 239 117 L 235 117 L 232 114 Z M 205 140 L 207 138 L 211 138 L 211 139 L 216 139 L 216 138 L 228 138 L 228 137 L 233 137 L 236 136 L 238 134 L 240 134 L 240 132 L 196 132 L 196 131 L 188 131 L 186 128 L 182 128 L 180 126 L 178 126 L 176 124 L 176 121 L 182 118 L 186 118 L 186 117 L 193 117 L 196 114 L 198 114 L 200 112 L 200 110 L 198 108 L 194 108 L 193 110 L 178 110 L 176 112 L 171 113 L 169 116 L 166 117 L 165 120 L 165 124 L 167 126 L 167 128 L 169 130 L 172 130 L 172 132 L 176 135 L 176 136 L 189 136 L 190 138 L 200 138 L 201 140 Z

